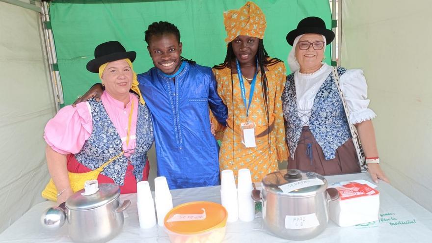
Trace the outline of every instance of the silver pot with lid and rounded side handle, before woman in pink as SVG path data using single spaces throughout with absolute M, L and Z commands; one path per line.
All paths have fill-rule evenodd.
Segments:
M 120 204 L 120 188 L 114 184 L 99 184 L 98 190 L 88 194 L 84 189 L 75 192 L 66 203 L 49 208 L 42 215 L 42 224 L 51 229 L 60 228 L 65 221 L 74 242 L 104 243 L 120 233 L 125 211 L 131 204 Z

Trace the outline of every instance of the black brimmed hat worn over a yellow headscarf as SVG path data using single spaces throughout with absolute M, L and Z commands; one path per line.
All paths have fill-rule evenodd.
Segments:
M 126 49 L 118 41 L 108 41 L 95 48 L 95 58 L 87 63 L 87 70 L 99 73 L 99 67 L 107 62 L 129 58 L 134 62 L 136 53 L 126 52 Z

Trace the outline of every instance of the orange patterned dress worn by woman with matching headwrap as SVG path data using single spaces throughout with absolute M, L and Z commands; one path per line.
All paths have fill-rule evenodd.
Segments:
M 217 124 L 216 119 L 212 119 L 213 124 L 217 124 L 215 126 L 216 138 L 221 140 L 219 167 L 220 170 L 233 170 L 236 180 L 238 170 L 248 168 L 252 175 L 252 181 L 260 182 L 265 175 L 278 170 L 278 162 L 288 160 L 289 152 L 285 142 L 281 101 L 286 81 L 285 65 L 283 62 L 279 62 L 268 66 L 267 69 L 269 122 L 267 121 L 267 112 L 264 106 L 260 72 L 257 75 L 253 100 L 249 108 L 249 120 L 254 122 L 256 126 L 255 141 L 257 146 L 246 148 L 242 143 L 240 129 L 240 124 L 246 122 L 246 108 L 241 95 L 239 77 L 237 74 L 232 75 L 234 83 L 234 89 L 232 89 L 230 69 L 213 68 L 217 81 L 217 92 L 228 107 L 226 128 Z M 248 101 L 250 84 L 244 77 L 243 80 L 246 100 Z M 234 91 L 234 99 L 232 99 L 232 90 Z

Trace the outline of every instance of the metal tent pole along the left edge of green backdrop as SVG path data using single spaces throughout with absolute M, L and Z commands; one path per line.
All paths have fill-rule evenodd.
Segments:
M 55 54 L 53 31 L 51 27 L 48 27 L 49 25 L 47 24 L 50 23 L 50 13 L 48 9 L 48 3 L 45 1 L 42 2 L 41 21 L 44 27 L 43 32 L 45 40 L 45 50 L 48 55 L 48 68 L 50 71 L 53 96 L 56 104 L 56 110 L 58 111 L 60 109 L 60 104 L 64 104 L 63 88 L 61 85 L 60 74 L 57 67 L 57 55 Z

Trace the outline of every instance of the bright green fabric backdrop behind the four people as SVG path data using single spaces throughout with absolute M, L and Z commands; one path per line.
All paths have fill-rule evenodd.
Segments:
M 183 42 L 183 56 L 198 64 L 213 66 L 226 54 L 223 11 L 239 8 L 246 0 L 54 0 L 50 5 L 58 68 L 65 105 L 75 101 L 95 82 L 97 74 L 85 65 L 94 48 L 110 40 L 136 51 L 136 73 L 153 64 L 144 41 L 144 31 L 155 21 L 175 24 Z M 286 61 L 291 46 L 286 34 L 307 16 L 324 19 L 331 26 L 328 0 L 255 0 L 267 18 L 264 46 L 272 57 Z M 325 59 L 330 63 L 330 48 Z M 287 67 L 288 69 L 288 67 Z M 288 71 L 289 72 L 289 71 Z

